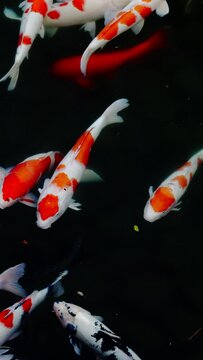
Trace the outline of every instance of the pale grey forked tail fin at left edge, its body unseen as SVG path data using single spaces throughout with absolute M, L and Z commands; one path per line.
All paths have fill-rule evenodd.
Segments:
M 21 263 L 16 266 L 13 266 L 7 270 L 5 270 L 0 275 L 0 286 L 1 289 L 10 291 L 15 295 L 19 295 L 25 297 L 26 291 L 22 288 L 22 286 L 18 283 L 18 280 L 25 273 L 25 264 Z

